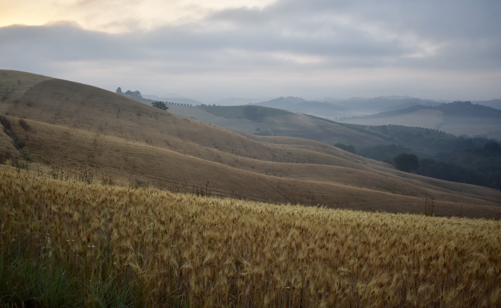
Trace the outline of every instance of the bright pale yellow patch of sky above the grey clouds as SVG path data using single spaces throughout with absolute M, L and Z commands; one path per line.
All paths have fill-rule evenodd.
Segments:
M 230 8 L 263 8 L 275 0 L 7 0 L 0 27 L 73 22 L 87 30 L 120 33 L 200 20 Z

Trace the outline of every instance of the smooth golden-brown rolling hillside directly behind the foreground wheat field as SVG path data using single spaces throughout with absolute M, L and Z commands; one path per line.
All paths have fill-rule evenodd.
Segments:
M 11 127 L 0 146 L 45 173 L 84 166 L 161 189 L 209 181 L 212 195 L 368 211 L 420 213 L 424 196 L 439 200 L 437 215 L 492 218 L 501 206 L 493 189 L 402 173 L 308 139 L 237 133 L 84 84 L 2 70 L 0 89 Z

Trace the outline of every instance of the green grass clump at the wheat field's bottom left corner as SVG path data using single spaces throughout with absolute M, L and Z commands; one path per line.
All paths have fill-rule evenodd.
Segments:
M 28 234 L 0 245 L 0 307 L 136 307 L 144 303 L 138 281 L 123 281 L 106 262 L 97 264 L 100 274 L 86 277 L 83 268 L 69 264 L 63 249 L 51 247 L 49 238 L 37 251 L 39 255 L 29 247 L 32 240 Z

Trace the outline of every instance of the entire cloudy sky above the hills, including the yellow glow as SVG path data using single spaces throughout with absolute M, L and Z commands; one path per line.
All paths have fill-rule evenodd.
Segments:
M 501 1 L 3 0 L 0 69 L 227 97 L 501 98 Z

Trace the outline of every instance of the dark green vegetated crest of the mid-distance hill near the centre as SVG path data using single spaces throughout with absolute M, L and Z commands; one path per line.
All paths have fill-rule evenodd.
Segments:
M 292 112 L 263 106 L 216 106 L 201 104 L 200 108 L 228 119 L 248 119 L 254 122 L 261 122 L 266 116 L 292 114 Z

